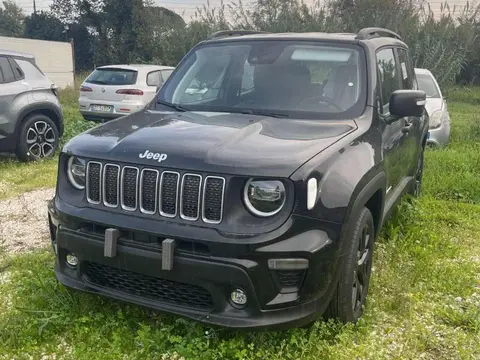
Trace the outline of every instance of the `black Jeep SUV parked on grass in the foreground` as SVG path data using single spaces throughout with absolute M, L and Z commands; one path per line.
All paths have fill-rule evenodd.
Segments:
M 424 104 L 389 30 L 215 33 L 65 145 L 56 276 L 226 327 L 355 322 L 380 228 L 420 193 Z

